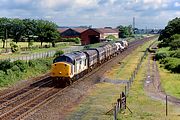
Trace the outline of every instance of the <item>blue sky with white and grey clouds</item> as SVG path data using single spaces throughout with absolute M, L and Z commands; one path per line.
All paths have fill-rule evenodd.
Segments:
M 59 26 L 164 28 L 180 0 L 0 0 L 0 17 L 44 19 Z

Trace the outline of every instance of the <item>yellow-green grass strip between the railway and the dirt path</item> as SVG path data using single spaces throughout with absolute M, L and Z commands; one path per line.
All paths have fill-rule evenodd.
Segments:
M 149 44 L 147 43 L 139 47 L 138 50 L 134 51 L 133 54 L 129 55 L 126 58 L 126 61 L 128 60 L 129 68 L 133 68 L 135 66 L 134 65 L 135 63 L 132 62 L 135 61 L 134 55 L 140 58 L 143 54 L 143 50 L 141 49 L 146 48 L 145 46 L 148 46 Z M 122 69 L 126 68 L 127 67 L 126 65 Z M 133 113 L 130 114 L 129 111 L 126 111 L 125 114 L 119 114 L 118 115 L 119 120 L 141 120 L 141 119 L 164 120 L 165 119 L 165 104 L 160 101 L 152 100 L 151 98 L 146 96 L 143 90 L 143 84 L 147 69 L 146 65 L 147 65 L 147 59 L 142 64 L 142 67 L 137 74 L 135 82 L 133 83 L 127 98 L 127 105 Z M 120 68 L 121 66 L 119 65 L 118 67 Z M 109 76 L 111 78 L 114 78 L 116 74 L 119 74 L 116 73 L 118 72 L 117 69 L 113 68 L 111 71 L 112 73 L 114 73 Z M 125 73 L 122 72 L 121 74 L 125 74 Z M 127 76 L 129 75 L 130 74 L 127 74 Z M 76 108 L 72 109 L 72 111 L 74 112 L 72 112 L 69 116 L 67 116 L 67 119 L 68 120 L 71 119 L 72 120 L 81 120 L 81 119 L 82 120 L 112 120 L 113 115 L 106 115 L 106 113 L 113 108 L 114 106 L 113 103 L 116 102 L 117 98 L 119 98 L 120 92 L 122 92 L 123 90 L 124 90 L 124 85 L 114 85 L 110 83 L 96 84 L 94 88 L 89 91 L 89 95 L 81 102 L 81 104 L 79 104 Z M 170 114 L 168 116 L 168 119 L 172 118 L 172 120 L 177 120 L 179 118 L 177 114 L 178 112 L 180 112 L 180 109 L 178 108 L 175 109 L 169 105 L 169 111 Z

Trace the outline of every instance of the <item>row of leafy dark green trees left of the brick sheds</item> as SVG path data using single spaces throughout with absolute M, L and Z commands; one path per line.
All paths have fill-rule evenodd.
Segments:
M 0 18 L 0 39 L 3 41 L 3 48 L 7 38 L 12 38 L 16 43 L 22 38 L 28 41 L 28 47 L 32 40 L 51 42 L 55 46 L 60 34 L 57 25 L 46 20 L 34 19 L 8 19 Z

